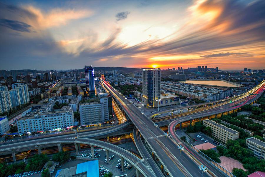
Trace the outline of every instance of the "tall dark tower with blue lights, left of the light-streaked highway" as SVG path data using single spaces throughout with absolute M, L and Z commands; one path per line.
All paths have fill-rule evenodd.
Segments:
M 90 96 L 95 96 L 95 81 L 94 81 L 94 69 L 92 65 L 85 66 L 85 78 L 87 91 L 89 91 Z

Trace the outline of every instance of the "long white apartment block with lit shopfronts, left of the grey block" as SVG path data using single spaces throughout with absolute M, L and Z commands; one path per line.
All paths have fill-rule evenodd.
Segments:
M 53 112 L 33 113 L 17 121 L 19 133 L 60 129 L 74 125 L 72 109 Z

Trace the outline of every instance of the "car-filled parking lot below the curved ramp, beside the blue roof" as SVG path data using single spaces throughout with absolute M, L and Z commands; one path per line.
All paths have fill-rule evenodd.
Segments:
M 80 155 L 85 153 L 85 154 L 87 154 L 86 156 L 88 156 L 90 152 L 91 152 L 91 150 L 81 151 Z M 97 157 L 98 161 L 99 161 L 98 164 L 99 164 L 99 166 L 103 165 L 103 168 L 104 168 L 103 171 L 105 173 L 107 172 L 107 169 L 108 169 L 111 173 L 113 173 L 113 176 L 120 176 L 120 175 L 123 175 L 123 174 L 127 174 L 128 177 L 132 177 L 133 175 L 136 174 L 136 170 L 133 167 L 131 167 L 130 169 L 124 168 L 124 172 L 121 171 L 121 168 L 117 168 L 116 165 L 119 163 L 118 160 L 120 159 L 120 157 L 118 155 L 114 154 L 114 153 L 109 152 L 109 156 L 110 157 L 112 155 L 114 155 L 114 157 L 112 159 L 110 159 L 110 163 L 109 164 L 107 162 L 105 162 L 106 151 L 104 151 L 103 149 L 100 149 L 100 151 L 98 151 L 98 149 L 95 149 L 94 154 L 100 155 L 100 157 Z M 124 161 L 126 161 L 126 160 L 124 160 Z M 131 166 L 131 164 L 129 164 L 129 165 Z M 100 174 L 100 176 L 101 176 L 101 174 Z

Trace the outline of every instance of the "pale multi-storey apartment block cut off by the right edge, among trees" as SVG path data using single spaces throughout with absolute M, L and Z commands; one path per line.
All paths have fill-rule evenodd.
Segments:
M 265 142 L 255 137 L 250 137 L 246 139 L 246 145 L 253 151 L 255 156 L 265 160 Z

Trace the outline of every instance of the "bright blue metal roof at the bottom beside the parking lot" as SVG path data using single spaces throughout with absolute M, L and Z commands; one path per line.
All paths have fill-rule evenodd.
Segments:
M 99 177 L 98 160 L 77 164 L 75 174 L 87 172 L 87 177 Z

